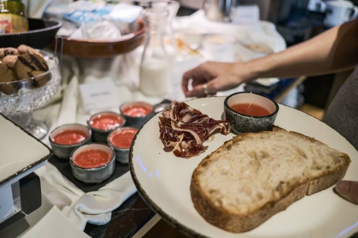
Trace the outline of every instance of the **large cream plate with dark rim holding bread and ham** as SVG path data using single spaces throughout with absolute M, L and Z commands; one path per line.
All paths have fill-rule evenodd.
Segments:
M 225 97 L 187 101 L 187 104 L 214 119 L 220 119 Z M 287 130 L 315 137 L 347 153 L 352 163 L 344 179 L 358 180 L 358 152 L 338 132 L 322 121 L 279 105 L 275 124 Z M 217 134 L 205 153 L 191 159 L 164 152 L 159 139 L 159 115 L 139 131 L 132 146 L 130 169 L 139 192 L 166 220 L 193 236 L 215 238 L 346 238 L 358 231 L 358 206 L 332 188 L 296 201 L 285 211 L 246 233 L 229 233 L 207 223 L 195 210 L 189 192 L 191 174 L 199 162 L 224 141 L 233 137 Z

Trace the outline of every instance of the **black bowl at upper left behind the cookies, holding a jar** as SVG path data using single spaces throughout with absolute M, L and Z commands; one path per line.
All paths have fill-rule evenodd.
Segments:
M 58 21 L 28 18 L 29 31 L 0 34 L 0 48 L 17 48 L 24 44 L 35 49 L 43 49 L 48 46 L 62 26 Z

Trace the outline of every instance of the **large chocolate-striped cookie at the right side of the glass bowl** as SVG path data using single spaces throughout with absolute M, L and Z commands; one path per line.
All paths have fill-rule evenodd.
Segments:
M 46 61 L 41 56 L 23 54 L 17 59 L 18 60 L 15 63 L 14 71 L 19 80 L 34 77 L 32 80 L 32 86 L 35 88 L 43 86 L 48 80 L 50 80 L 50 74 L 36 77 L 37 75 L 47 72 L 49 69 Z

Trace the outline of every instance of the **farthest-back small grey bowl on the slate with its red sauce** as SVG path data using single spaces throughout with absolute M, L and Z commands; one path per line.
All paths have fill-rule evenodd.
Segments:
M 154 115 L 154 107 L 145 102 L 125 103 L 120 106 L 119 110 L 123 117 L 125 117 L 127 125 L 136 128 L 140 128 L 148 119 Z

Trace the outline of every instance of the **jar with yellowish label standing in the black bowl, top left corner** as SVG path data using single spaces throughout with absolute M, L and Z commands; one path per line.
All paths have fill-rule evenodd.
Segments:
M 28 31 L 21 0 L 0 0 L 0 34 Z

